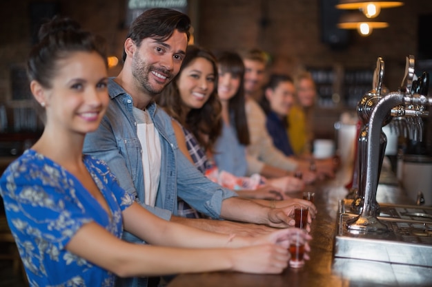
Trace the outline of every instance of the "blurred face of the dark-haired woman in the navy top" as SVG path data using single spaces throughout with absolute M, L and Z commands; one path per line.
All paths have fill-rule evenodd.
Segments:
M 294 103 L 295 87 L 290 81 L 280 82 L 275 89 L 266 89 L 270 108 L 278 116 L 286 116 Z

